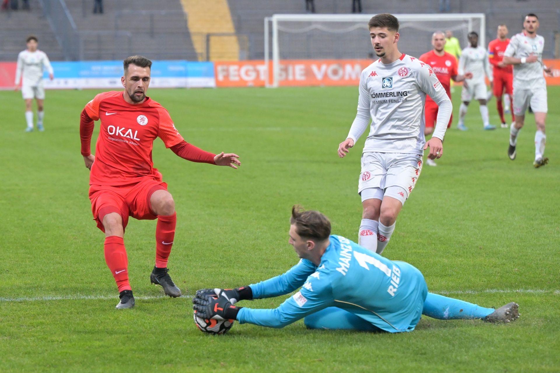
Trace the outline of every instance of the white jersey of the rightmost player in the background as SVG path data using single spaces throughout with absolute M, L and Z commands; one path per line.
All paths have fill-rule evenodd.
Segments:
M 543 75 L 544 37 L 529 37 L 524 32 L 514 35 L 503 54 L 508 57 L 526 58 L 531 54 L 538 58 L 537 62 L 514 65 L 514 88 L 533 89 L 546 87 Z

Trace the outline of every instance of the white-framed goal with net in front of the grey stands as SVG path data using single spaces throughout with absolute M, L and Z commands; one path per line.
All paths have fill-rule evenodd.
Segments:
M 374 15 L 273 15 L 264 19 L 264 59 L 272 74 L 267 87 L 278 87 L 281 60 L 375 59 L 367 22 Z M 400 23 L 399 50 L 419 57 L 432 49 L 435 31 L 451 30 L 461 48 L 475 31 L 486 46 L 483 13 L 396 14 Z

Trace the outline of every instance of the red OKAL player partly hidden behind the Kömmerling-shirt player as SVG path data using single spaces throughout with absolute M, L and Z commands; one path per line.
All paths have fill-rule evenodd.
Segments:
M 444 51 L 445 34 L 443 31 L 433 33 L 432 45 L 433 49 L 421 55 L 420 60 L 430 65 L 433 72 L 436 73 L 437 79 L 439 79 L 441 85 L 444 86 L 447 97 L 451 99 L 451 79 L 455 82 L 462 82 L 465 78 L 472 78 L 473 74 L 465 73 L 465 75 L 459 75 L 457 72 L 457 59 L 454 55 Z M 430 96 L 426 96 L 426 104 L 424 107 L 424 121 L 426 122 L 426 126 L 424 127 L 424 136 L 433 133 L 433 125 L 436 122 L 437 110 L 437 104 L 433 102 Z M 451 115 L 447 128 L 450 128 L 452 120 L 453 115 Z M 430 158 L 426 159 L 426 163 L 429 166 L 437 166 L 437 163 Z

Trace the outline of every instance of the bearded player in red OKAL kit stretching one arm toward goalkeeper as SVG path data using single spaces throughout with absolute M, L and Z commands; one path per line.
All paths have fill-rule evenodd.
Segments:
M 91 171 L 91 209 L 97 226 L 105 233 L 105 262 L 119 289 L 118 309 L 134 306 L 123 240 L 129 216 L 138 220 L 157 219 L 156 263 L 150 280 L 161 285 L 166 295 L 181 295 L 167 269 L 175 235 L 175 202 L 167 192 L 161 173 L 153 168 L 153 140 L 162 139 L 166 148 L 192 162 L 232 168 L 241 164 L 236 154 L 216 155 L 186 143 L 169 112 L 146 97 L 150 60 L 132 56 L 125 59 L 123 65 L 124 92 L 95 96 L 83 109 L 80 119 L 81 153 Z M 90 152 L 90 142 L 96 120 L 101 120 L 101 129 L 94 156 Z

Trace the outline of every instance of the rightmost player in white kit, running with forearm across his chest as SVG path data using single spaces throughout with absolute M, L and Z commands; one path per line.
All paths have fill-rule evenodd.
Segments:
M 548 163 L 544 157 L 544 122 L 547 119 L 547 82 L 543 71 L 552 76 L 552 69 L 543 64 L 544 37 L 536 35 L 539 18 L 533 13 L 525 16 L 525 31 L 513 36 L 503 54 L 505 64 L 514 65 L 514 115 L 515 122 L 510 127 L 510 147 L 507 150 L 511 160 L 515 159 L 517 134 L 525 122 L 525 110 L 530 105 L 535 114 L 535 161 L 539 168 Z

